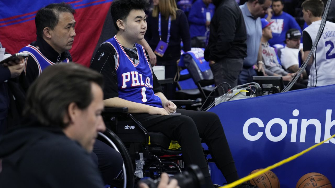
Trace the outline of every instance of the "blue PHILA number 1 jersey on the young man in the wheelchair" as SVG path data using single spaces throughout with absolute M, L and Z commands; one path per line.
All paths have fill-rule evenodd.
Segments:
M 111 44 L 118 56 L 115 69 L 118 78 L 119 97 L 128 101 L 162 108 L 160 98 L 154 94 L 152 89 L 152 69 L 143 46 L 135 43 L 138 56 L 138 63 L 135 64 L 128 57 L 116 36 L 104 43 Z

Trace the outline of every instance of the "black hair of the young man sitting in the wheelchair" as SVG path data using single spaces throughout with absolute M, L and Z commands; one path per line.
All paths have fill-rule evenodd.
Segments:
M 132 10 L 147 10 L 150 3 L 147 0 L 114 0 L 111 5 L 111 15 L 116 30 L 120 30 L 117 20 L 125 20 Z

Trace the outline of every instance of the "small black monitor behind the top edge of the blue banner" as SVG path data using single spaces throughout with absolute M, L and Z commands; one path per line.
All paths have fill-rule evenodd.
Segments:
M 284 89 L 282 76 L 253 76 L 253 80 L 261 86 L 263 95 L 279 93 Z M 276 87 L 278 90 L 272 87 Z

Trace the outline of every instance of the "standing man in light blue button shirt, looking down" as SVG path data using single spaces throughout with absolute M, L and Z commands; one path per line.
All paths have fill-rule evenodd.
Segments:
M 265 15 L 270 5 L 271 0 L 249 0 L 240 5 L 247 28 L 247 57 L 244 59 L 243 69 L 239 75 L 239 84 L 252 82 L 252 77 L 257 75 L 255 69 L 266 75 L 260 45 L 262 37 L 261 17 Z

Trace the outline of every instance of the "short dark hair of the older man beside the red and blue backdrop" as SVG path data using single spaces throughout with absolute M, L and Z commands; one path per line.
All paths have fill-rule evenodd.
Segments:
M 70 4 L 66 4 L 64 2 L 52 3 L 37 11 L 35 17 L 37 36 L 42 37 L 43 29 L 46 27 L 54 29 L 58 24 L 59 14 L 62 12 L 69 12 L 74 14 L 76 11 L 72 8 Z

